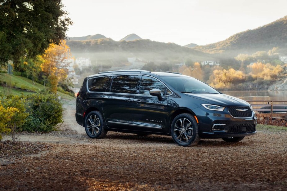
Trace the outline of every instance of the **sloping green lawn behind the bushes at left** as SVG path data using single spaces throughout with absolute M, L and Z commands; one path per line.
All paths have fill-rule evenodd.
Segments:
M 45 89 L 45 87 L 42 84 L 39 84 L 37 82 L 34 82 L 27 79 L 25 77 L 22 76 L 14 76 L 11 74 L 7 74 L 7 73 L 0 73 L 0 82 L 10 82 L 11 81 L 11 86 L 16 86 L 16 87 L 25 87 L 25 89 L 30 90 L 30 91 L 25 91 L 25 90 L 21 90 L 18 88 L 12 88 L 11 87 L 11 94 L 12 95 L 29 95 L 29 94 L 33 94 L 35 93 L 35 91 L 42 91 L 43 89 Z M 47 87 L 46 87 L 47 88 Z M 61 96 L 61 99 L 65 99 L 65 100 L 73 100 L 74 97 L 62 93 L 62 92 L 57 92 L 59 94 L 59 96 Z M 3 87 L 0 86 L 0 95 L 4 95 L 4 91 L 3 91 Z

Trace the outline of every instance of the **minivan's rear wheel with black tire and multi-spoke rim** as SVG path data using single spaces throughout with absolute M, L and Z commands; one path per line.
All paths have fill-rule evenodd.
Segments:
M 99 111 L 91 111 L 85 120 L 85 130 L 92 139 L 104 138 L 107 130 L 104 128 L 104 119 Z

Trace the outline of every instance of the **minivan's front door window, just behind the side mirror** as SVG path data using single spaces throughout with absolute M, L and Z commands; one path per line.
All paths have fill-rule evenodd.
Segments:
M 155 78 L 151 78 L 148 76 L 142 76 L 140 94 L 150 95 L 150 90 L 152 89 L 160 89 L 161 95 L 164 95 L 164 92 L 165 92 L 164 84 L 162 84 Z

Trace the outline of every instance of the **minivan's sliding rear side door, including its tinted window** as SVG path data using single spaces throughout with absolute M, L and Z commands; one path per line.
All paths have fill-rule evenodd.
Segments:
M 138 75 L 116 75 L 110 89 L 103 96 L 103 113 L 106 124 L 113 129 L 130 129 L 133 124 L 133 99 Z

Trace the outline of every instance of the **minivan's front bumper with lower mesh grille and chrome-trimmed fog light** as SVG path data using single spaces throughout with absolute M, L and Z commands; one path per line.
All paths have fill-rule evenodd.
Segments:
M 257 118 L 254 114 L 250 118 L 234 118 L 228 110 L 212 111 L 202 107 L 194 112 L 199 121 L 200 138 L 243 137 L 257 133 Z

